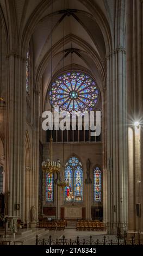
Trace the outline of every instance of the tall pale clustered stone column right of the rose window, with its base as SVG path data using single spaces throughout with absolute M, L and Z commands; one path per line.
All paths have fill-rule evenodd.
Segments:
M 107 200 L 108 233 L 127 223 L 126 52 L 122 46 L 107 57 Z

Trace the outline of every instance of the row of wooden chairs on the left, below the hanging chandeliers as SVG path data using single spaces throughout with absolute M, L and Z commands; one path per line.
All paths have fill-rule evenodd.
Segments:
M 46 228 L 50 230 L 64 230 L 66 227 L 65 221 L 41 221 L 39 222 L 39 228 Z

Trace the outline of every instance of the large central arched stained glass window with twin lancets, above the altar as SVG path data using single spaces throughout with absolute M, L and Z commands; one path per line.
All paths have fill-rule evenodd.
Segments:
M 74 177 L 74 179 L 73 179 Z M 65 202 L 83 201 L 83 170 L 77 157 L 71 157 L 65 165 Z

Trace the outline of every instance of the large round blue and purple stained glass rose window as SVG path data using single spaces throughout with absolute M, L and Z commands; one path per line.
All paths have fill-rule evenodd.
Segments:
M 59 111 L 92 111 L 99 96 L 96 82 L 82 72 L 67 72 L 52 83 L 49 101 Z

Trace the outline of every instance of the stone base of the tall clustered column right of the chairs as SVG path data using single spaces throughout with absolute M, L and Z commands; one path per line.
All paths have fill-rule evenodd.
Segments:
M 127 231 L 126 223 L 107 222 L 107 234 L 123 236 Z

